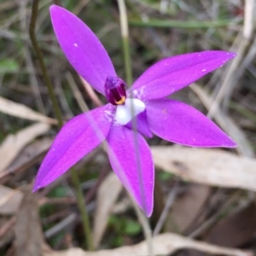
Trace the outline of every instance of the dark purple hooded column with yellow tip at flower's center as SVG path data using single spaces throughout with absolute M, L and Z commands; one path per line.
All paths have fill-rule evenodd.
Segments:
M 117 106 L 125 103 L 125 82 L 118 77 L 108 77 L 105 82 L 105 94 L 108 102 Z

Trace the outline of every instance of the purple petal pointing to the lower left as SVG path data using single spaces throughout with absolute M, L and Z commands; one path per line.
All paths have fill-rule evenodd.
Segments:
M 108 136 L 110 104 L 82 113 L 64 125 L 49 148 L 33 191 L 52 183 Z

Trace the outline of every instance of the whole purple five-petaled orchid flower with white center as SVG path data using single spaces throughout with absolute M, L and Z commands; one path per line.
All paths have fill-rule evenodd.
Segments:
M 50 15 L 68 61 L 109 103 L 80 114 L 62 127 L 38 171 L 34 190 L 55 181 L 107 140 L 113 171 L 150 216 L 154 164 L 143 136 L 155 134 L 172 143 L 194 147 L 236 147 L 195 108 L 167 98 L 222 67 L 235 57 L 234 53 L 210 50 L 166 58 L 149 67 L 125 90 L 125 82 L 117 77 L 108 53 L 90 28 L 56 5 L 50 7 Z M 134 124 L 137 131 L 132 129 Z

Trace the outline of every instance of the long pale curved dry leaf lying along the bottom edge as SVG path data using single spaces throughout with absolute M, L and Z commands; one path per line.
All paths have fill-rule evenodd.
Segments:
M 161 234 L 153 238 L 154 255 L 169 255 L 179 249 L 189 248 L 199 250 L 204 253 L 234 255 L 234 256 L 253 256 L 251 252 L 245 252 L 228 247 L 218 247 L 206 242 L 195 241 L 183 236 L 172 233 Z M 44 253 L 44 256 L 139 256 L 148 255 L 147 241 L 130 246 L 119 247 L 112 250 L 102 250 L 97 252 L 84 252 L 79 248 L 71 248 L 62 252 Z

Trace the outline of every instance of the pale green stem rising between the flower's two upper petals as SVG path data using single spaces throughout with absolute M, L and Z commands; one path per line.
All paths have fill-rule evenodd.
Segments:
M 125 0 L 118 0 L 119 4 L 119 13 L 120 13 L 120 26 L 122 34 L 122 44 L 123 44 L 123 53 L 125 58 L 125 75 L 126 83 L 128 85 L 132 84 L 132 72 L 131 72 L 131 55 L 130 55 L 130 45 L 129 45 L 129 31 L 128 31 L 128 22 L 127 14 L 125 8 Z

